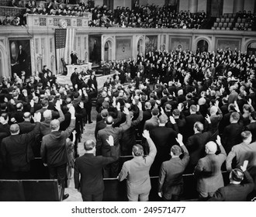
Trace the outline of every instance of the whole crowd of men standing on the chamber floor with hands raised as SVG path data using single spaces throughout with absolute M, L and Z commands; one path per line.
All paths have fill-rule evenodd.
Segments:
M 237 50 L 150 52 L 118 62 L 101 93 L 93 72 L 84 79 L 74 71 L 71 87 L 51 85 L 47 71 L 29 82 L 4 77 L 1 176 L 29 178 L 29 162 L 40 156 L 63 187 L 67 163 L 74 165 L 75 188 L 85 201 L 102 200 L 103 177 L 126 179 L 129 201 L 147 201 L 155 175 L 158 195 L 177 201 L 184 173 L 195 175 L 200 200 L 244 201 L 256 177 L 255 60 Z M 78 157 L 95 97 L 95 140 L 85 141 Z M 119 157 L 130 155 L 119 170 Z M 231 186 L 224 187 L 226 169 Z

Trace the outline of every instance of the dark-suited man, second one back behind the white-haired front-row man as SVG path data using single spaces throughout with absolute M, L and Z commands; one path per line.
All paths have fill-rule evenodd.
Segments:
M 197 107 L 196 105 L 191 105 L 189 108 L 190 115 L 185 117 L 186 122 L 186 131 L 185 131 L 185 140 L 189 138 L 189 136 L 192 136 L 194 134 L 193 128 L 195 122 L 202 122 L 204 124 L 205 119 L 201 114 L 196 114 Z

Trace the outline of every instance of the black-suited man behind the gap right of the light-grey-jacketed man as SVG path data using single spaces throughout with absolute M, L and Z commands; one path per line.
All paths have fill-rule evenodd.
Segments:
M 166 127 L 165 124 L 167 121 L 167 116 L 161 115 L 159 117 L 159 126 L 150 130 L 150 137 L 157 147 L 157 155 L 154 159 L 154 163 L 150 168 L 151 176 L 156 176 L 159 174 L 161 164 L 170 158 L 169 153 L 171 146 L 177 144 L 176 138 L 178 135 L 178 126 L 175 122 L 175 119 L 171 116 L 171 122 L 175 126 L 176 130 Z

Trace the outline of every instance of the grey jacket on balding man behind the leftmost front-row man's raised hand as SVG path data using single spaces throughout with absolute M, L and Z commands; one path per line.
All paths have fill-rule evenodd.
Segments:
M 99 130 L 97 134 L 96 140 L 96 155 L 102 155 L 104 157 L 110 156 L 110 146 L 106 140 L 109 140 L 109 136 L 113 136 L 114 144 L 117 146 L 116 148 L 119 149 L 119 140 L 121 138 L 121 133 L 126 129 L 129 129 L 131 125 L 130 115 L 126 115 L 126 124 L 120 127 L 112 127 L 106 126 L 105 129 Z

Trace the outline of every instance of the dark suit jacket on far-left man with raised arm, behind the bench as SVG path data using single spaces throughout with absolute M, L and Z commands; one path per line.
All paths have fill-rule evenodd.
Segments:
M 29 171 L 29 161 L 33 152 L 29 143 L 40 132 L 40 122 L 33 131 L 21 135 L 11 135 L 2 140 L 2 159 L 9 171 Z

